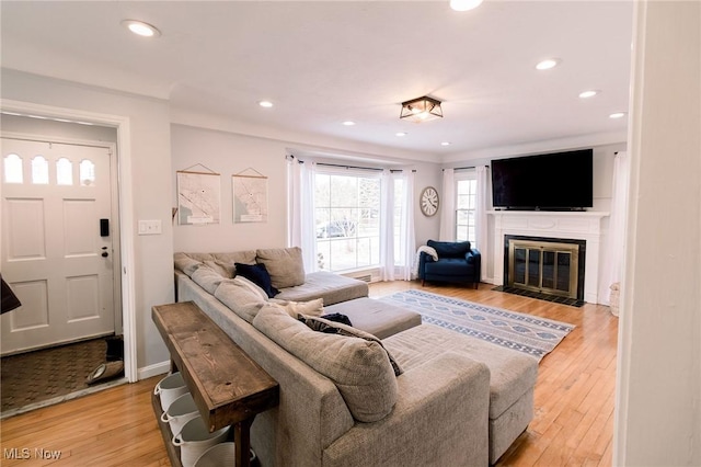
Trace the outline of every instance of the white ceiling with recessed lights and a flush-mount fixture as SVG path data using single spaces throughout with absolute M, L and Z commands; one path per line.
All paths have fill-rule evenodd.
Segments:
M 628 111 L 632 14 L 632 1 L 601 0 L 469 12 L 447 0 L 2 1 L 1 52 L 5 68 L 179 112 L 447 161 L 624 140 L 627 118 L 609 114 Z M 136 36 L 125 19 L 162 34 Z M 550 57 L 560 66 L 536 70 Z M 601 92 L 578 98 L 589 89 Z M 422 95 L 445 117 L 400 121 L 401 102 Z

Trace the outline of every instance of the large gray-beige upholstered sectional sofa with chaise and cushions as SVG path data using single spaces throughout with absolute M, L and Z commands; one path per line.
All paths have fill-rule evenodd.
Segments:
M 367 298 L 360 281 L 304 274 L 298 249 L 174 259 L 177 300 L 195 301 L 280 385 L 279 406 L 251 430 L 262 466 L 486 466 L 532 419 L 535 358 L 422 324 Z M 234 263 L 256 262 L 274 298 L 235 276 Z

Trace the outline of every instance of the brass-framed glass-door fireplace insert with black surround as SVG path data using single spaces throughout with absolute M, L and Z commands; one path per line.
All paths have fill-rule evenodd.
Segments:
M 504 236 L 508 287 L 583 300 L 585 260 L 585 240 Z

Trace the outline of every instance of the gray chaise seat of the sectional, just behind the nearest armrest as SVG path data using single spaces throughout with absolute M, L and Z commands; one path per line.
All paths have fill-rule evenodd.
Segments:
M 538 361 L 517 351 L 434 324 L 411 328 L 382 341 L 402 368 L 457 352 L 490 368 L 490 464 L 508 449 L 533 418 Z M 466 395 L 470 397 L 470 395 Z

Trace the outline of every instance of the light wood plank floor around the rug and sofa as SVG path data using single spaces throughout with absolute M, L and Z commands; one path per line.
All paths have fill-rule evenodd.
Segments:
M 370 296 L 409 288 L 421 288 L 421 284 L 372 284 Z M 576 324 L 541 361 L 536 417 L 497 466 L 610 466 L 618 318 L 602 306 L 574 308 L 491 288 L 489 284 L 482 284 L 479 291 L 424 287 L 426 292 Z M 169 466 L 151 409 L 151 391 L 160 378 L 3 420 L 0 465 Z M 42 462 L 36 457 L 37 449 L 58 451 L 60 459 Z M 12 453 L 15 457 L 27 453 L 30 460 L 9 459 Z

